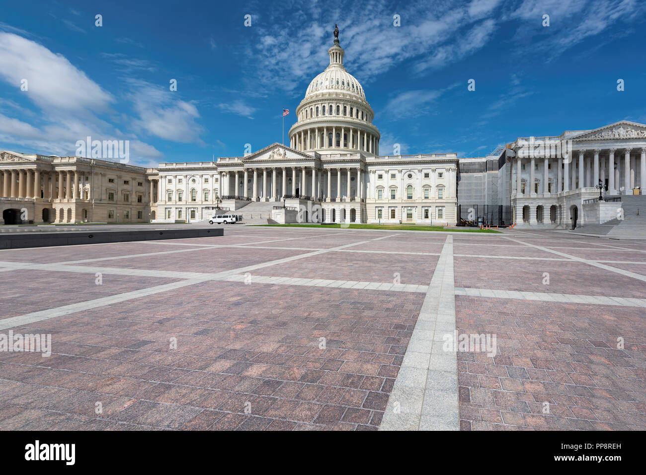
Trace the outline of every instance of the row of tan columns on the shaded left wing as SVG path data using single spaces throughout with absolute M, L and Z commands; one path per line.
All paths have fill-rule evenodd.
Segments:
M 72 176 L 74 187 L 72 188 Z M 58 179 L 58 186 L 56 185 Z M 42 183 L 41 183 L 42 179 Z M 65 184 L 63 183 L 65 182 Z M 0 170 L 0 196 L 12 198 L 76 199 L 79 176 L 74 170 Z

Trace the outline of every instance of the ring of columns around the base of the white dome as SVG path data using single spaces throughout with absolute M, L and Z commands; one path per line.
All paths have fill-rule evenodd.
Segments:
M 337 130 L 339 143 L 337 145 Z M 346 130 L 349 134 L 346 136 Z M 322 133 L 322 136 L 321 136 Z M 329 134 L 332 134 L 330 145 Z M 320 148 L 344 148 L 361 150 L 373 155 L 379 155 L 379 139 L 374 134 L 353 127 L 324 126 L 307 128 L 290 137 L 290 147 L 295 150 L 317 150 Z

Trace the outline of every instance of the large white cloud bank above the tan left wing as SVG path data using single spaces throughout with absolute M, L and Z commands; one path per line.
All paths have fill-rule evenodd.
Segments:
M 21 79 L 28 90 L 21 91 Z M 158 159 L 163 154 L 132 133 L 123 134 L 101 119 L 113 112 L 116 99 L 85 72 L 60 54 L 24 37 L 0 32 L 0 81 L 15 87 L 40 111 L 28 110 L 13 99 L 0 100 L 1 148 L 15 148 L 60 156 L 74 155 L 76 141 L 92 136 L 98 140 L 129 140 L 133 161 Z M 19 114 L 21 118 L 6 114 Z M 32 123 L 25 119 L 28 117 Z

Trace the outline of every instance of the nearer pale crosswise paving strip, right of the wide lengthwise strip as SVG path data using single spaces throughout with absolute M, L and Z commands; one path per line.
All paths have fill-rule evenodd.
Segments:
M 521 292 L 498 290 L 495 288 L 456 287 L 455 295 L 499 299 L 549 300 L 567 303 L 590 303 L 593 305 L 618 305 L 620 307 L 646 307 L 646 299 L 577 294 L 549 294 L 547 292 Z

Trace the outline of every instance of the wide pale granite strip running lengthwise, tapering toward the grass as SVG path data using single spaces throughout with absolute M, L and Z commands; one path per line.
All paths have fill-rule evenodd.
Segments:
M 453 237 L 447 236 L 379 430 L 459 430 Z

